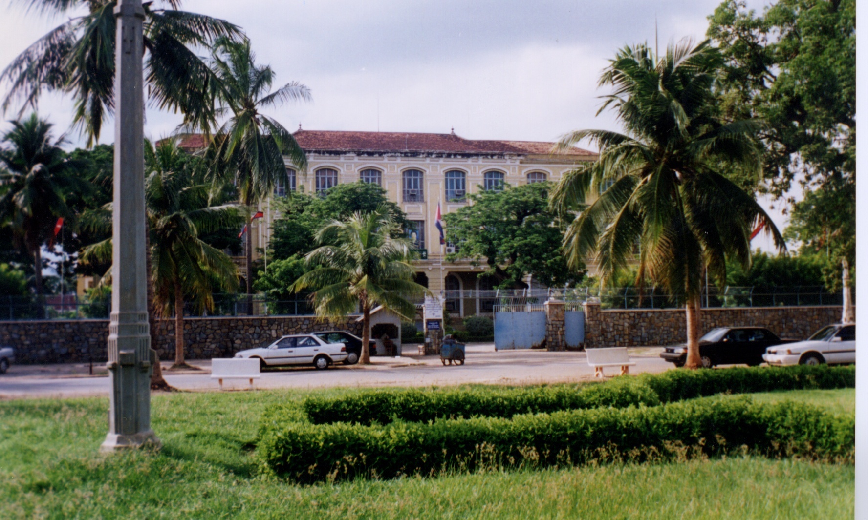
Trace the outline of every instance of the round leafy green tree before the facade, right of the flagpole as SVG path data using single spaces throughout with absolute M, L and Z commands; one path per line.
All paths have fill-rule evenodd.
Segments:
M 470 195 L 471 205 L 444 215 L 446 237 L 459 248 L 447 259 L 485 262 L 503 287 L 515 287 L 528 275 L 550 287 L 581 280 L 583 266 L 570 270 L 563 256 L 569 221 L 549 210 L 551 188 L 534 183 Z

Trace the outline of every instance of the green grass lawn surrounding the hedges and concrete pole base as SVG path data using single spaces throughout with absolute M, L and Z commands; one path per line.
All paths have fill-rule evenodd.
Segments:
M 352 390 L 318 390 L 340 394 Z M 306 392 L 155 396 L 160 452 L 98 454 L 108 400 L 0 402 L 0 518 L 843 518 L 852 465 L 727 458 L 299 486 L 260 473 L 272 403 Z M 852 413 L 855 392 L 755 394 Z

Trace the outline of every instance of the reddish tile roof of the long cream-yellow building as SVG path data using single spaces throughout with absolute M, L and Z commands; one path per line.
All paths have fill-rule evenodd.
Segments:
M 516 155 L 548 155 L 555 143 L 545 141 L 469 140 L 455 133 L 407 132 L 342 132 L 332 130 L 299 130 L 295 140 L 306 152 L 339 153 L 512 153 Z M 178 144 L 185 150 L 206 146 L 205 137 L 190 133 Z M 560 155 L 593 157 L 595 153 L 573 147 Z

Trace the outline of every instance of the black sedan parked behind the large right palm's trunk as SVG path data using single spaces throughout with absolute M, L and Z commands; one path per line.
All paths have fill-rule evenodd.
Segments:
M 766 348 L 798 340 L 782 340 L 761 327 L 721 327 L 709 330 L 700 338 L 702 366 L 736 365 L 745 363 L 755 367 L 763 362 Z M 660 357 L 683 367 L 687 361 L 687 345 L 674 345 L 661 352 Z

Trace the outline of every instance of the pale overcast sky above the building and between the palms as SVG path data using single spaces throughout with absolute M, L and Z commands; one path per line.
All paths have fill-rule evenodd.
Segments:
M 0 0 L 0 66 L 66 17 Z M 159 2 L 157 2 L 159 3 Z M 748 4 L 761 10 L 767 0 Z M 717 0 L 187 0 L 185 10 L 240 25 L 275 87 L 300 81 L 313 101 L 280 107 L 285 127 L 448 133 L 469 139 L 556 140 L 595 116 L 600 71 L 626 44 L 704 38 Z M 71 103 L 45 96 L 40 114 L 69 128 Z M 5 114 L 10 119 L 15 114 Z M 148 110 L 159 138 L 178 114 Z M 3 127 L 5 128 L 5 126 Z M 102 142 L 113 139 L 109 123 Z M 81 144 L 75 132 L 73 145 Z M 766 205 L 768 205 L 766 203 Z M 775 211 L 777 213 L 777 211 Z M 780 215 L 775 218 L 784 224 Z M 763 240 L 758 237 L 754 245 Z

